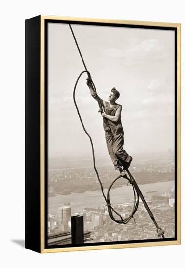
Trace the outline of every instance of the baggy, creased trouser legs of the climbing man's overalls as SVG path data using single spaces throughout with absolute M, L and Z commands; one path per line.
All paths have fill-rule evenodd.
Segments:
M 124 166 L 124 162 L 126 158 L 129 156 L 123 149 L 124 134 L 123 133 L 116 134 L 114 137 L 114 142 L 112 141 L 110 135 L 107 134 L 106 143 L 115 170 L 120 169 L 122 166 Z

